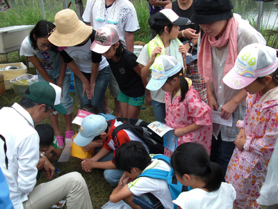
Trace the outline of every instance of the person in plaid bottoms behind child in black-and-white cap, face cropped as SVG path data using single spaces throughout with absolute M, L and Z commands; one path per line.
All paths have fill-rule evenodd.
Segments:
M 171 8 L 179 17 L 187 17 L 190 19 L 193 14 L 193 0 L 177 0 L 169 3 L 165 8 Z M 199 76 L 197 65 L 197 42 L 199 37 L 199 25 L 188 24 L 180 26 L 178 38 L 186 47 L 190 56 L 186 56 L 186 77 L 193 82 L 195 90 L 199 91 L 202 100 L 206 102 L 206 83 Z

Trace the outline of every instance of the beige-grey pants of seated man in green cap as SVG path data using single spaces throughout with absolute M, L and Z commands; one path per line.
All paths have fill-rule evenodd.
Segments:
M 67 209 L 92 208 L 88 187 L 78 172 L 67 173 L 38 185 L 28 195 L 28 200 L 22 204 L 24 209 L 49 209 L 65 197 L 67 198 Z

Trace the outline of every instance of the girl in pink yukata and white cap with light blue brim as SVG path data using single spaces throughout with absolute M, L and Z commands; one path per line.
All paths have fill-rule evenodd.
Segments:
M 165 121 L 175 129 L 178 145 L 193 141 L 202 144 L 209 155 L 213 131 L 211 108 L 201 100 L 191 80 L 184 78 L 181 63 L 172 56 L 158 56 L 152 65 L 152 79 L 147 88 L 165 91 Z M 164 155 L 171 157 L 172 151 L 165 148 Z

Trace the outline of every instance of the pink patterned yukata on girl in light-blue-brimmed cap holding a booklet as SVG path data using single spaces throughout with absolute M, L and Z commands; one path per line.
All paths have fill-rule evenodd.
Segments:
M 201 100 L 201 95 L 196 91 L 190 79 L 187 79 L 189 90 L 183 102 L 181 100 L 181 90 L 172 98 L 172 93 L 165 92 L 165 107 L 166 107 L 166 125 L 177 129 L 186 127 L 192 123 L 204 125 L 203 127 L 184 134 L 179 137 L 178 146 L 186 142 L 195 142 L 202 144 L 208 155 L 211 154 L 211 139 L 213 132 L 213 122 L 211 118 L 211 108 L 206 102 Z M 171 101 L 172 100 L 172 101 Z M 164 155 L 171 157 L 172 151 L 164 148 Z

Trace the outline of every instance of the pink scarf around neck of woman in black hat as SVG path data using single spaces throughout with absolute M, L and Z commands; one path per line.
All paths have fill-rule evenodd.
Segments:
M 224 66 L 223 77 L 234 67 L 236 62 L 237 53 L 237 30 L 238 20 L 234 17 L 228 20 L 226 29 L 222 36 L 217 40 L 215 37 L 209 37 L 206 33 L 202 37 L 202 42 L 198 54 L 198 69 L 199 75 L 205 79 L 213 81 L 212 76 L 212 56 L 211 46 L 224 47 L 228 44 L 228 52 L 226 57 L 226 63 Z

